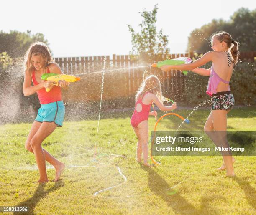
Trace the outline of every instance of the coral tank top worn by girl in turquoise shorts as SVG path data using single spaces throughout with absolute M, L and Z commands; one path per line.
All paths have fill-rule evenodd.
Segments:
M 49 68 L 47 69 L 47 73 L 50 73 Z M 32 81 L 34 86 L 38 85 L 38 82 L 36 81 L 35 71 L 32 72 Z M 59 86 L 54 86 L 48 93 L 46 92 L 45 88 L 36 91 L 36 93 L 38 95 L 40 104 L 49 104 L 51 102 L 62 100 L 61 88 Z

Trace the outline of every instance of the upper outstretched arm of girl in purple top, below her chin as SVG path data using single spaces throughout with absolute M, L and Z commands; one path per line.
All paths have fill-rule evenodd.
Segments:
M 177 70 L 194 70 L 197 67 L 200 67 L 204 65 L 205 63 L 212 61 L 212 58 L 214 57 L 215 51 L 209 51 L 205 53 L 201 58 L 197 59 L 196 61 L 192 63 L 186 63 L 181 65 L 165 65 L 161 66 L 161 70 L 163 71 L 170 71 L 171 69 L 177 69 Z

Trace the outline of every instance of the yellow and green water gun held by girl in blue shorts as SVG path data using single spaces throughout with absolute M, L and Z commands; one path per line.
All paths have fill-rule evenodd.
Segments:
M 55 81 L 54 85 L 58 86 L 58 82 L 60 80 L 64 80 L 67 82 L 76 82 L 79 81 L 81 78 L 64 74 L 46 73 L 41 76 L 41 79 L 45 81 Z M 46 88 L 46 92 L 49 92 L 50 90 L 51 89 Z

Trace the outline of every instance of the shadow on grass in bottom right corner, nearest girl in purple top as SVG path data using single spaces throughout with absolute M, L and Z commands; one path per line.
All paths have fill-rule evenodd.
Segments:
M 233 180 L 243 189 L 246 196 L 246 200 L 249 205 L 256 209 L 256 190 L 246 180 L 243 180 L 237 176 L 233 177 Z

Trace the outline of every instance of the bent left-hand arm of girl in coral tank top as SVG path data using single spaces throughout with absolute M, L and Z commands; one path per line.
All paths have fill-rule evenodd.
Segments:
M 36 86 L 31 86 L 32 77 L 28 71 L 25 72 L 24 82 L 23 82 L 23 94 L 24 96 L 30 96 L 36 91 L 41 90 L 42 88 L 53 88 L 53 81 L 44 81 L 43 83 L 38 83 Z

